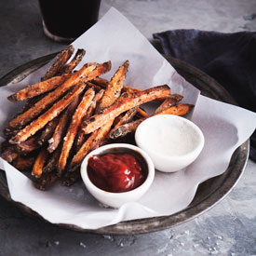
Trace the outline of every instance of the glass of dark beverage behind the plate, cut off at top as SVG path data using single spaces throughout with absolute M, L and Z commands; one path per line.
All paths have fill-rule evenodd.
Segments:
M 45 34 L 57 42 L 71 43 L 99 17 L 101 0 L 39 0 Z

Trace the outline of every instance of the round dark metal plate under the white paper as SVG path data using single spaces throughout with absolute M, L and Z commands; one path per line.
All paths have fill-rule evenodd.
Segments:
M 42 58 L 30 61 L 11 71 L 0 79 L 0 86 L 6 86 L 8 83 L 16 83 L 31 74 L 36 69 L 40 68 L 52 58 L 56 53 L 44 56 Z M 209 98 L 225 101 L 228 103 L 236 104 L 229 93 L 222 88 L 214 79 L 209 77 L 192 65 L 179 61 L 174 58 L 165 56 L 171 65 L 181 74 L 188 82 L 193 84 L 196 88 L 200 89 L 202 94 Z M 58 224 L 61 227 L 68 229 L 108 235 L 132 235 L 155 232 L 158 230 L 167 229 L 183 222 L 188 222 L 196 216 L 202 214 L 208 209 L 212 208 L 216 203 L 220 202 L 222 198 L 227 195 L 231 189 L 236 185 L 241 177 L 246 166 L 249 156 L 249 141 L 243 143 L 238 147 L 232 155 L 228 168 L 222 175 L 209 179 L 199 185 L 195 198 L 192 203 L 186 208 L 175 214 L 163 217 L 147 218 L 134 220 L 129 222 L 119 222 L 115 225 L 103 227 L 97 230 L 81 229 L 80 227 L 70 224 Z M 12 201 L 9 195 L 7 180 L 4 171 L 0 171 L 0 195 L 8 201 L 14 203 L 20 209 L 29 214 L 33 214 L 40 219 L 43 219 L 38 213 L 29 209 L 25 205 Z

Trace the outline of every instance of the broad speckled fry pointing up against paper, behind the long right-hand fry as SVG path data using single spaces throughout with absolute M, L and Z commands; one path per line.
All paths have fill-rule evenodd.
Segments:
M 123 88 L 124 81 L 127 77 L 129 62 L 125 61 L 125 63 L 119 67 L 119 69 L 115 72 L 111 81 L 106 88 L 104 95 L 101 99 L 99 106 L 97 107 L 96 112 L 102 113 L 102 111 L 112 105 L 116 99 L 119 98 L 121 94 L 121 89 Z

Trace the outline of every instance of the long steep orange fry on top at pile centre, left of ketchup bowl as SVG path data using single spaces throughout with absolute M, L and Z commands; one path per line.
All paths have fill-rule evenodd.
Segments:
M 76 136 L 77 130 L 79 128 L 79 125 L 83 119 L 83 117 L 86 115 L 88 107 L 95 95 L 95 92 L 93 88 L 89 88 L 87 92 L 85 93 L 82 101 L 77 106 L 72 122 L 68 128 L 67 134 L 64 138 L 62 150 L 61 150 L 61 156 L 58 162 L 58 174 L 61 176 L 62 171 L 66 167 L 66 163 L 68 160 L 68 156 L 70 154 L 71 148 L 74 143 L 74 138 Z

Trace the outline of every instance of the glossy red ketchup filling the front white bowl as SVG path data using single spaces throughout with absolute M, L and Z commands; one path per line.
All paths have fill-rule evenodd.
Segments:
M 135 155 L 108 153 L 88 159 L 88 177 L 97 187 L 108 192 L 127 192 L 145 181 L 147 171 Z

